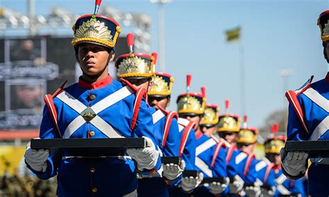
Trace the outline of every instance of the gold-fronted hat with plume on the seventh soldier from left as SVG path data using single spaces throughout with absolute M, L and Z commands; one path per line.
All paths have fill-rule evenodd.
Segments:
M 247 126 L 247 116 L 244 116 L 243 127 L 240 128 L 237 143 L 255 144 L 257 142 L 258 129 Z

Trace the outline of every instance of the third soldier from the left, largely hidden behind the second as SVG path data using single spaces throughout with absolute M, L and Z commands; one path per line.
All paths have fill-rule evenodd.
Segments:
M 171 88 L 174 83 L 174 77 L 162 73 L 156 72 L 152 77 L 151 89 L 149 90 L 149 105 L 157 108 L 160 106 L 166 109 L 170 104 Z M 194 123 L 187 119 L 178 119 L 178 129 L 180 134 L 180 148 L 179 156 L 181 160 L 185 162 L 185 170 L 195 169 L 195 144 L 196 139 L 194 135 Z M 201 180 L 199 180 L 200 182 Z M 187 196 L 195 187 L 196 180 L 194 178 L 183 178 L 181 182 L 169 187 L 170 196 Z

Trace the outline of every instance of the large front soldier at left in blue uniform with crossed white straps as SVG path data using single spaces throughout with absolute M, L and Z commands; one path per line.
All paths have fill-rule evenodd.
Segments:
M 144 99 L 137 100 L 132 86 L 121 85 L 108 75 L 108 62 L 121 31 L 119 24 L 97 15 L 79 17 L 73 26 L 72 44 L 83 75 L 78 83 L 44 96 L 40 138 L 145 137 L 147 148 L 127 152 L 144 173 L 160 169 L 155 148 L 152 116 Z M 135 106 L 135 108 L 134 108 Z M 137 196 L 133 160 L 127 157 L 56 157 L 48 150 L 24 155 L 31 171 L 41 179 L 57 175 L 58 196 Z

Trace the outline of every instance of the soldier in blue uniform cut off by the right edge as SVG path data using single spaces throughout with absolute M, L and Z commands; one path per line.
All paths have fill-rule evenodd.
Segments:
M 323 54 L 329 62 L 329 10 L 321 13 L 318 25 L 321 30 Z M 315 83 L 312 78 L 296 91 L 286 93 L 289 101 L 287 126 L 288 141 L 328 140 L 329 119 L 329 74 Z M 303 177 L 307 170 L 308 154 L 303 151 L 281 151 L 282 171 L 289 178 Z M 312 164 L 308 169 L 309 194 L 311 196 L 329 196 L 329 159 L 310 158 Z

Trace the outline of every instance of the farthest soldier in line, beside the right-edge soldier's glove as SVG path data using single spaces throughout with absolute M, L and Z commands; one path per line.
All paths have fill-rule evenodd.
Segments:
M 275 196 L 305 196 L 302 180 L 290 180 L 282 173 L 280 149 L 285 146 L 286 139 L 280 135 L 273 136 L 264 143 L 265 155 L 269 162 L 273 163 L 272 169 L 276 181 Z

